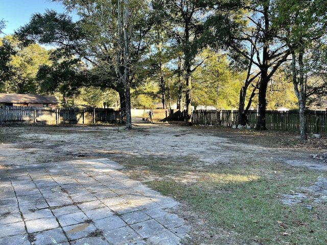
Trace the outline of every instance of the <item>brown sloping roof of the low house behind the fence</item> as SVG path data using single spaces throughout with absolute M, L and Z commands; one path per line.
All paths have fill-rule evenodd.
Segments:
M 58 100 L 47 95 L 0 93 L 0 103 L 58 104 Z

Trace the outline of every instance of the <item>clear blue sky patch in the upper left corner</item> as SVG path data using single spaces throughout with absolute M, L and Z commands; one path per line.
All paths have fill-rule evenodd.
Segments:
M 51 0 L 0 0 L 0 19 L 6 21 L 6 28 L 2 32 L 6 35 L 13 34 L 27 24 L 34 13 L 44 13 L 46 9 L 64 12 L 61 3 Z

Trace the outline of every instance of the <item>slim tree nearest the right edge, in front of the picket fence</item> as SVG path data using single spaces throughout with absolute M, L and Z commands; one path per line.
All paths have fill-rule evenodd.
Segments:
M 322 0 L 278 0 L 275 4 L 275 25 L 292 55 L 291 72 L 299 106 L 300 139 L 306 140 L 306 77 L 308 72 L 312 72 L 310 52 L 319 48 L 320 39 L 326 38 L 327 7 Z

